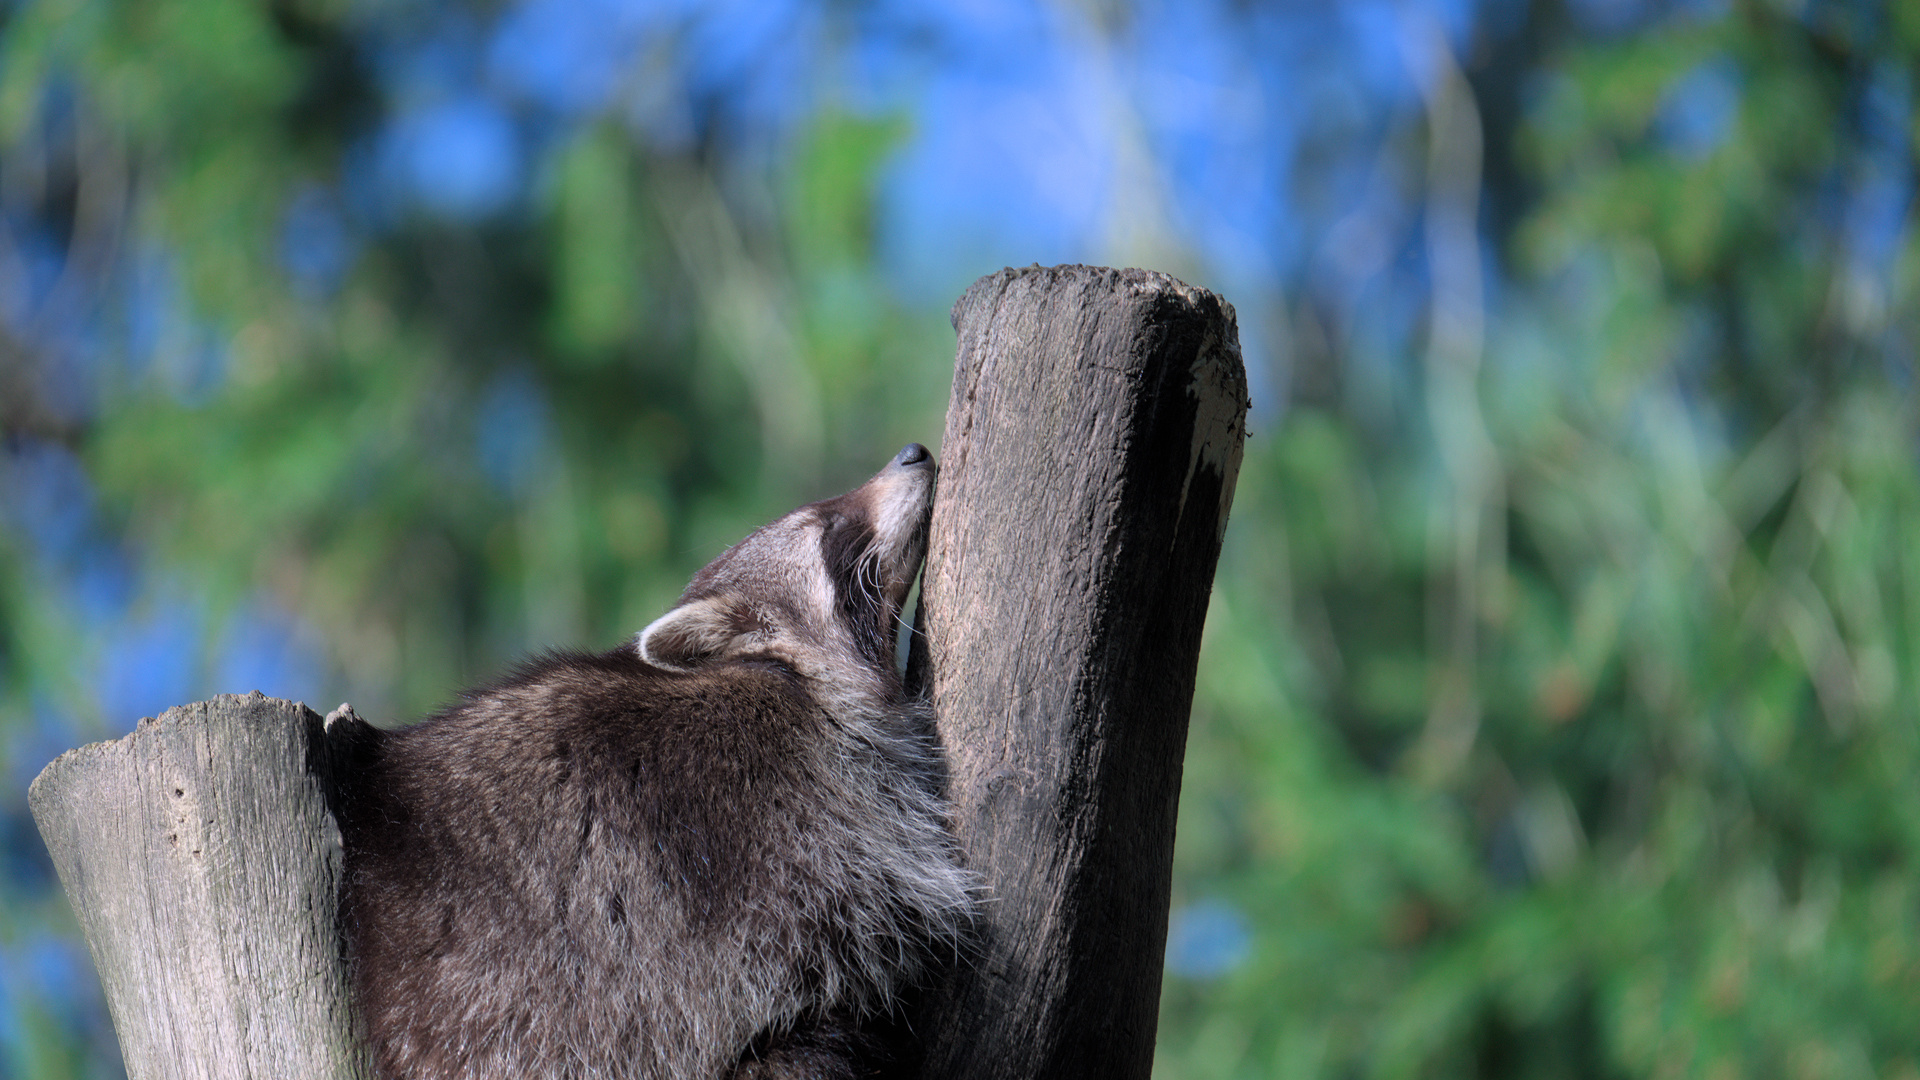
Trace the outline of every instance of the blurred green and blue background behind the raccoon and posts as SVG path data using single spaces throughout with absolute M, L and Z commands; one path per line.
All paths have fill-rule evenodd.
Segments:
M 1916 60 L 1905 0 L 0 4 L 0 1072 L 121 1070 L 56 753 L 609 646 L 939 438 L 972 279 L 1092 261 L 1254 388 L 1160 1076 L 1920 1076 Z

